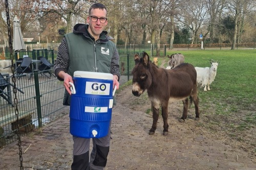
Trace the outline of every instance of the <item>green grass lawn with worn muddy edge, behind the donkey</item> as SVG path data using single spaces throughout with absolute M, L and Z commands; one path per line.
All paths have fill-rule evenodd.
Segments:
M 214 132 L 226 131 L 231 138 L 250 143 L 255 154 L 256 50 L 167 52 L 168 55 L 174 53 L 182 53 L 185 62 L 198 67 L 210 67 L 210 59 L 219 62 L 217 76 L 210 85 L 211 90 L 199 88 L 199 107 L 201 115 L 205 116 L 205 123 L 198 126 Z M 160 57 L 158 61 L 165 67 L 168 58 Z

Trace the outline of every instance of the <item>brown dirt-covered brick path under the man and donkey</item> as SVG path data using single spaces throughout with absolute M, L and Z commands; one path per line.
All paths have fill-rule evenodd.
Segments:
M 112 112 L 111 149 L 105 170 L 256 169 L 254 148 L 219 129 L 202 126 L 211 119 L 209 115 L 202 114 L 196 121 L 191 107 L 186 121 L 180 123 L 182 103 L 170 103 L 169 134 L 162 135 L 163 122 L 159 116 L 155 134 L 148 135 L 153 118 L 147 94 L 135 97 L 132 86 L 128 86 L 119 90 L 116 99 L 117 106 Z M 24 136 L 22 141 L 24 169 L 70 169 L 73 141 L 69 133 L 69 115 Z M 1 149 L 0 155 L 0 169 L 19 169 L 16 143 Z

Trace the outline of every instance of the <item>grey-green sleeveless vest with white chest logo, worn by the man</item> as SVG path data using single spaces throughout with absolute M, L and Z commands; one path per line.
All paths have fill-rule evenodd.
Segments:
M 65 35 L 69 48 L 68 74 L 75 71 L 92 71 L 110 73 L 111 59 L 115 52 L 112 41 L 100 42 L 74 33 Z M 70 105 L 70 95 L 65 90 L 63 105 Z

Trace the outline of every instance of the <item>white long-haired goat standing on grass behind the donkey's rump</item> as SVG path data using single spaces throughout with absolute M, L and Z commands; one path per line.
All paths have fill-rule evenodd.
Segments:
M 197 84 L 204 87 L 204 91 L 210 90 L 210 84 L 214 81 L 217 75 L 219 63 L 210 60 L 211 67 L 195 67 L 197 70 Z M 207 89 L 206 89 L 207 86 Z

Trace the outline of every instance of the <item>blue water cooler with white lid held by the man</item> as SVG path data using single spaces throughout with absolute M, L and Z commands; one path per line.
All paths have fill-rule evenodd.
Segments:
M 108 134 L 113 108 L 113 75 L 75 71 L 71 86 L 70 133 L 82 138 Z

